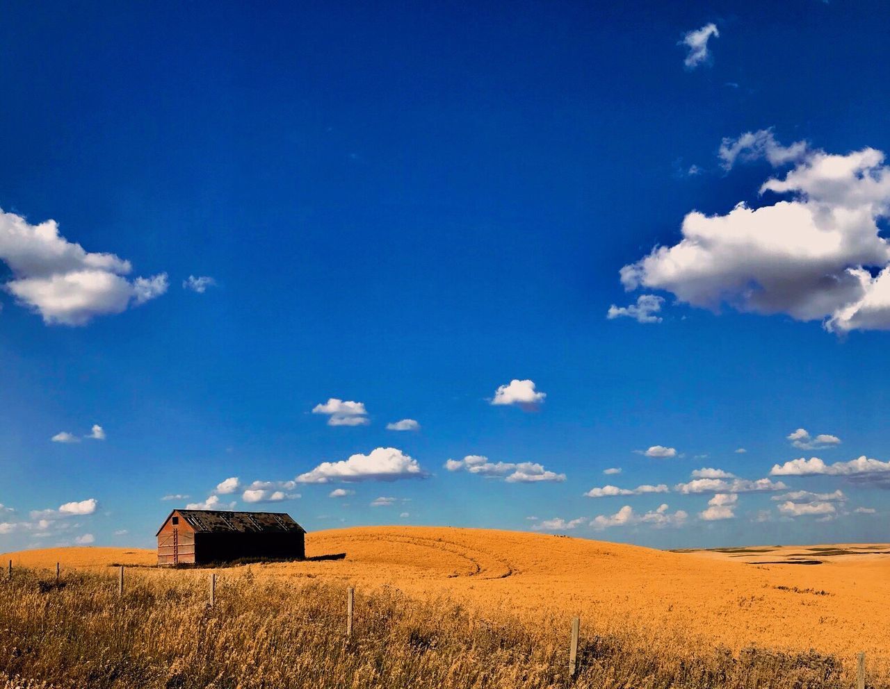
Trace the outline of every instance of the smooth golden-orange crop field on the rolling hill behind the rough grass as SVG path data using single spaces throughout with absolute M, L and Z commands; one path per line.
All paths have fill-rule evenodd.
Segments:
M 360 590 L 444 595 L 530 619 L 579 614 L 583 629 L 633 630 L 738 651 L 750 645 L 830 653 L 864 650 L 890 661 L 890 545 L 827 545 L 665 552 L 537 533 L 367 527 L 310 533 L 309 557 L 223 571 Z M 71 548 L 2 556 L 16 565 L 153 565 L 154 552 Z M 795 561 L 819 565 L 789 565 Z M 150 573 L 149 570 L 144 572 Z M 187 577 L 188 572 L 174 576 Z M 568 629 L 568 626 L 566 626 Z M 677 642 L 679 643 L 679 641 Z

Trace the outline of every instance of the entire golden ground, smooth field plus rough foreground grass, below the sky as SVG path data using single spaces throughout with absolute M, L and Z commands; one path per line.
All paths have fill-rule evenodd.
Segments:
M 870 685 L 890 686 L 886 555 L 747 565 L 734 549 L 418 527 L 312 533 L 307 546 L 346 557 L 220 570 L 213 610 L 199 570 L 136 567 L 118 601 L 107 565 L 150 565 L 152 551 L 15 554 L 61 560 L 66 585 L 41 588 L 49 571 L 0 583 L 0 669 L 60 687 L 563 686 L 579 614 L 581 687 L 852 686 L 858 650 Z

